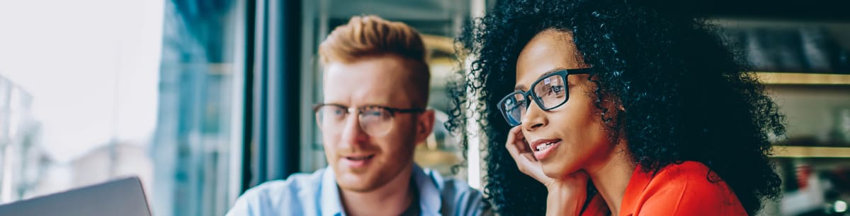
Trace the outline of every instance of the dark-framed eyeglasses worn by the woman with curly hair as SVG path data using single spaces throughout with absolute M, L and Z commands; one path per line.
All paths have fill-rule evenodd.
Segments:
M 570 92 L 567 91 L 567 75 L 582 75 L 589 72 L 590 69 L 587 68 L 563 69 L 546 75 L 531 84 L 530 91 L 513 91 L 501 98 L 498 103 L 499 111 L 508 125 L 512 127 L 520 125 L 525 111 L 529 108 L 529 98 L 544 111 L 558 108 L 570 97 Z

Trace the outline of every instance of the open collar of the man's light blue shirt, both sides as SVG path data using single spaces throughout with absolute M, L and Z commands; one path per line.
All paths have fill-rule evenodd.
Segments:
M 327 167 L 322 174 L 320 186 L 320 209 L 322 216 L 344 216 L 343 203 L 339 197 L 339 187 L 337 180 L 334 177 L 333 169 Z M 413 164 L 413 180 L 416 188 L 419 190 L 419 207 L 422 209 L 422 215 L 440 215 L 441 201 L 439 188 L 442 188 L 442 177 L 439 174 L 433 174 L 433 171 L 423 170 Z

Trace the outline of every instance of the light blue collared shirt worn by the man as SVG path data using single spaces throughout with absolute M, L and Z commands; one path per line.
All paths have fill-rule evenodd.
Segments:
M 443 179 L 436 171 L 413 165 L 413 180 L 419 190 L 423 216 L 482 215 L 481 192 L 466 182 Z M 236 200 L 227 216 L 345 216 L 337 181 L 330 168 L 313 174 L 292 174 L 256 186 Z

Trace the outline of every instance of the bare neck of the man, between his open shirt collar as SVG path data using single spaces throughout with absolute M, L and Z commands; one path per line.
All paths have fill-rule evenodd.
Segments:
M 403 213 L 411 204 L 416 204 L 411 203 L 414 199 L 411 187 L 416 184 L 412 181 L 412 169 L 411 166 L 402 170 L 393 180 L 373 191 L 340 190 L 345 213 L 351 216 Z

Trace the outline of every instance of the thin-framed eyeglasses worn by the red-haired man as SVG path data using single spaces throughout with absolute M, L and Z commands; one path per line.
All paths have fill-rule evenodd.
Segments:
M 369 136 L 384 136 L 393 127 L 395 114 L 419 114 L 425 112 L 422 108 L 388 108 L 381 106 L 366 106 L 348 108 L 333 103 L 320 103 L 313 107 L 316 122 L 321 130 L 341 130 L 345 126 L 348 114 L 356 112 L 360 129 Z

